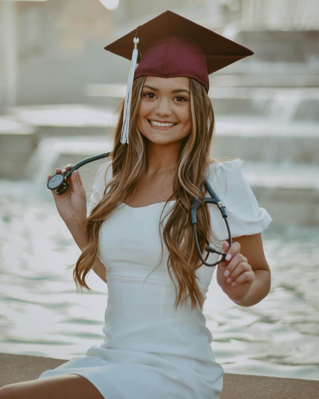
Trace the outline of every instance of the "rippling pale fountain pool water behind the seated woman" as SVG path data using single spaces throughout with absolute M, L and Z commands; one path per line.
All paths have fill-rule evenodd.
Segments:
M 0 190 L 0 352 L 84 356 L 104 338 L 107 285 L 91 271 L 94 292 L 76 292 L 67 267 L 81 252 L 49 190 Z M 319 231 L 270 225 L 262 236 L 272 288 L 259 304 L 235 305 L 214 273 L 204 313 L 215 358 L 230 373 L 318 380 Z

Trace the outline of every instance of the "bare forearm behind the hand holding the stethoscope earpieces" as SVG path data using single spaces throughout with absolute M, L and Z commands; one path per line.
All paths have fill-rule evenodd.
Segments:
M 249 291 L 240 301 L 233 300 L 240 306 L 252 306 L 264 299 L 271 285 L 270 272 L 267 270 L 254 270 L 255 279 L 252 282 Z

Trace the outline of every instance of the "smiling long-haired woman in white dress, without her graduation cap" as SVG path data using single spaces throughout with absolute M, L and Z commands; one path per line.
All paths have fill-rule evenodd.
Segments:
M 96 174 L 88 209 L 79 173 L 65 194 L 52 191 L 82 250 L 73 272 L 77 286 L 89 289 L 91 269 L 108 284 L 104 342 L 35 381 L 0 389 L 0 397 L 219 398 L 224 371 L 202 312 L 215 267 L 198 257 L 190 205 L 205 197 L 208 180 L 226 206 L 231 247 L 212 204 L 197 211 L 199 246 L 228 253 L 217 282 L 240 306 L 260 302 L 270 290 L 260 233 L 272 218 L 259 207 L 240 159 L 210 158 L 213 108 L 207 86 L 189 75 L 134 77 L 130 142 L 122 144 L 123 100 L 112 157 Z M 217 260 L 207 254 L 207 262 Z

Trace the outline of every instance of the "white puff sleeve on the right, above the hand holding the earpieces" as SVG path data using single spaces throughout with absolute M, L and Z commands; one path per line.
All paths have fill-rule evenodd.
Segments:
M 243 161 L 234 159 L 210 165 L 209 183 L 226 206 L 227 220 L 232 237 L 252 235 L 265 230 L 272 217 L 259 206 L 246 177 L 242 173 Z M 211 167 L 214 165 L 213 167 Z M 209 204 L 212 241 L 222 247 L 228 239 L 226 224 L 217 205 Z

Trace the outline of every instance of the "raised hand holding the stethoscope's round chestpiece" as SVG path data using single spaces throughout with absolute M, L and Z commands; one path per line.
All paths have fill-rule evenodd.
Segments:
M 55 173 L 65 173 L 73 164 L 68 164 L 62 168 L 56 168 Z M 47 180 L 51 174 L 47 176 Z M 58 195 L 55 190 L 51 190 L 55 205 L 65 224 L 78 224 L 82 228 L 83 221 L 87 217 L 87 196 L 83 187 L 83 182 L 79 170 L 75 170 L 67 179 L 69 188 L 64 194 Z

